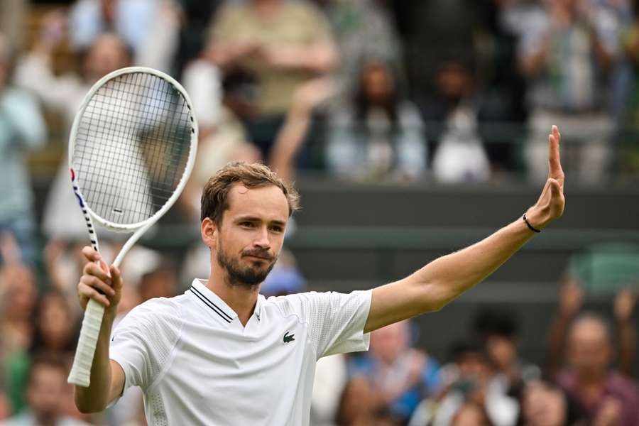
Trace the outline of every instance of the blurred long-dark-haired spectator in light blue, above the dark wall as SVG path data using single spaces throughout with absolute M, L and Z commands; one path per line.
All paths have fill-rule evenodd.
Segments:
M 405 98 L 391 65 L 365 60 L 349 104 L 331 114 L 329 169 L 360 180 L 415 180 L 426 169 L 417 108 Z

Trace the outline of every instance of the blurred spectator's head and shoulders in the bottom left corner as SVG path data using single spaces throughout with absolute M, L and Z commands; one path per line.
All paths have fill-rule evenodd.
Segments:
M 1 426 L 88 426 L 63 414 L 67 385 L 67 367 L 62 359 L 42 355 L 33 359 L 29 371 L 26 400 L 28 409 Z

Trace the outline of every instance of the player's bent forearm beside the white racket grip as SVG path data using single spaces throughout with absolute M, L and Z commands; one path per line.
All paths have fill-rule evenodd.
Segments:
M 91 366 L 91 385 L 88 388 L 75 386 L 75 405 L 82 413 L 96 413 L 109 404 L 111 392 L 111 361 L 109 360 L 109 341 L 115 315 L 105 313 L 98 337 L 93 364 Z

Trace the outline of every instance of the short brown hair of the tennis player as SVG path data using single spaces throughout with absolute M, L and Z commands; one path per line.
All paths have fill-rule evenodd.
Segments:
M 229 191 L 236 183 L 247 188 L 274 185 L 288 201 L 288 216 L 300 209 L 300 195 L 292 185 L 284 182 L 266 165 L 234 162 L 225 165 L 209 179 L 202 191 L 200 221 L 211 218 L 218 226 L 222 224 L 222 214 L 229 209 Z

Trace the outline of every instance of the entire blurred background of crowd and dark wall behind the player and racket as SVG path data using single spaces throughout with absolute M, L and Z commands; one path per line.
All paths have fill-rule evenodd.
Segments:
M 562 131 L 567 209 L 440 312 L 318 364 L 312 425 L 639 425 L 639 2 L 0 0 L 0 425 L 145 425 L 65 382 L 88 243 L 73 116 L 111 70 L 175 76 L 200 122 L 180 202 L 121 267 L 121 315 L 209 274 L 200 191 L 295 181 L 265 295 L 373 288 L 518 219 Z M 126 236 L 99 231 L 104 258 Z

